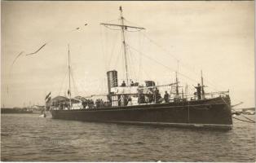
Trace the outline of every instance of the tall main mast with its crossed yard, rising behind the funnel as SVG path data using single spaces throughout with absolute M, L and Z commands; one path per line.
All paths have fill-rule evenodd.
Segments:
M 120 27 L 120 28 L 121 28 L 121 39 L 122 39 L 122 44 L 123 44 L 123 48 L 124 48 L 125 64 L 126 64 L 126 83 L 127 83 L 127 85 L 128 85 L 129 74 L 128 74 L 128 66 L 127 66 L 127 51 L 126 51 L 126 37 L 125 37 L 125 31 L 126 31 L 126 29 L 144 29 L 144 28 L 126 25 L 126 24 L 124 23 L 125 18 L 124 18 L 123 15 L 122 15 L 122 8 L 119 7 L 119 10 L 120 10 L 120 20 L 121 20 L 121 24 L 106 24 L 106 23 L 101 23 L 101 25 L 104 25 L 104 26 L 115 26 L 115 27 Z

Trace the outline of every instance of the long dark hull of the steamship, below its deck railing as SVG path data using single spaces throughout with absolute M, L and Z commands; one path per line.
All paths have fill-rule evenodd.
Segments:
M 229 96 L 166 104 L 51 110 L 55 119 L 232 129 Z

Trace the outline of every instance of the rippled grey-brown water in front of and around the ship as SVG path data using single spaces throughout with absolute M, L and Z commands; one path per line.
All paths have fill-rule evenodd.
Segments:
M 2 114 L 1 160 L 254 162 L 255 124 L 234 120 L 220 131 Z

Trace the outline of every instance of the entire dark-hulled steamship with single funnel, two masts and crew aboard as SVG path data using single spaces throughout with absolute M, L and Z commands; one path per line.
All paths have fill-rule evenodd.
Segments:
M 121 24 L 102 24 L 121 29 L 124 59 L 126 66 L 126 82 L 118 84 L 116 70 L 108 71 L 107 101 L 96 102 L 77 96 L 71 98 L 70 64 L 68 46 L 69 89 L 68 98 L 57 96 L 46 104 L 51 110 L 52 118 L 77 121 L 99 121 L 126 124 L 151 124 L 161 126 L 214 127 L 232 129 L 232 107 L 228 91 L 205 93 L 201 75 L 201 85 L 196 86 L 196 95 L 188 98 L 179 92 L 179 79 L 168 85 L 157 86 L 155 81 L 145 83 L 132 82 L 128 78 L 126 60 L 126 29 L 143 29 L 124 24 L 120 7 Z M 143 85 L 144 84 L 144 85 Z M 161 98 L 159 88 L 170 86 Z M 216 96 L 217 95 L 217 96 Z M 215 97 L 214 97 L 215 96 Z

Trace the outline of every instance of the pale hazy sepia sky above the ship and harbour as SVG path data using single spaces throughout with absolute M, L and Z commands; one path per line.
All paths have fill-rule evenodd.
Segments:
M 43 105 L 50 91 L 66 94 L 68 44 L 72 95 L 106 94 L 106 72 L 113 69 L 121 83 L 121 32 L 100 25 L 119 24 L 120 6 L 126 24 L 145 28 L 126 32 L 130 78 L 168 84 L 178 71 L 180 85 L 192 87 L 202 70 L 205 91 L 229 90 L 232 104 L 254 107 L 251 1 L 2 1 L 1 106 Z

